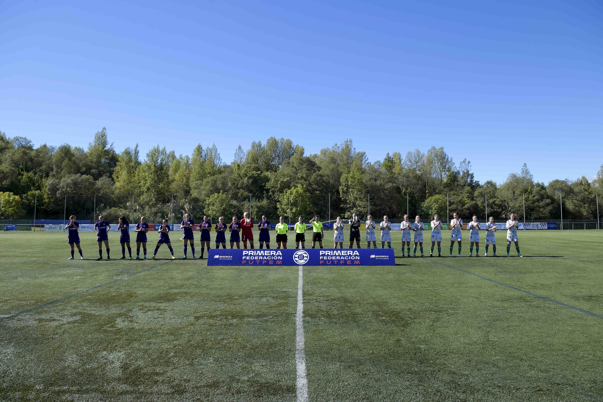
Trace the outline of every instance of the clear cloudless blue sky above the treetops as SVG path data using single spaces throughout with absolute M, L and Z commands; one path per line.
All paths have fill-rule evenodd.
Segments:
M 476 178 L 603 164 L 600 1 L 4 2 L 0 130 L 118 151 L 352 138 L 444 146 Z

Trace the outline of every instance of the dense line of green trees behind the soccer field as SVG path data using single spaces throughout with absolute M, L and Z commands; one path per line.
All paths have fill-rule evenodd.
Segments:
M 502 165 L 502 164 L 501 164 Z M 189 212 L 198 217 L 241 215 L 254 217 L 317 213 L 373 215 L 401 218 L 411 214 L 446 216 L 475 213 L 502 219 L 510 212 L 526 219 L 596 219 L 596 193 L 603 184 L 603 165 L 595 180 L 535 181 L 526 164 L 504 183 L 475 180 L 469 160 L 455 163 L 443 147 L 393 152 L 370 162 L 351 139 L 317 154 L 306 154 L 290 139 L 268 138 L 239 145 L 233 162 L 224 163 L 215 145 L 197 145 L 191 155 L 176 155 L 156 145 L 144 158 L 138 145 L 116 152 L 106 128 L 94 134 L 87 149 L 63 144 L 34 144 L 25 137 L 0 131 L 0 219 L 32 218 L 37 199 L 39 219 L 62 218 L 67 196 L 68 214 L 92 218 L 103 213 L 112 221 L 120 215 L 146 215 L 151 221 Z M 95 200 L 95 201 L 94 201 Z M 289 207 L 290 205 L 290 207 Z

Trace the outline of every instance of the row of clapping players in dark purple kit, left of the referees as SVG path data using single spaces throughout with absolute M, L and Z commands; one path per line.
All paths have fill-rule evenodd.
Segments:
M 84 259 L 83 253 L 80 247 L 80 235 L 78 233 L 78 228 L 80 224 L 75 221 L 77 216 L 71 215 L 69 216 L 69 224 L 63 228 L 63 230 L 68 230 L 67 241 L 71 246 L 71 257 L 69 260 L 74 259 L 75 247 L 77 247 L 81 259 Z M 140 223 L 136 224 L 136 228 L 134 232 L 136 233 L 136 260 L 140 259 L 140 246 L 142 246 L 144 259 L 147 259 L 147 233 L 149 225 L 146 222 L 146 217 L 142 216 L 140 218 Z M 269 228 L 270 222 L 265 221 L 264 218 L 264 226 Z M 194 243 L 194 224 L 192 221 L 191 215 L 186 214 L 185 220 L 183 220 L 180 224 L 180 228 L 183 230 L 184 234 L 181 240 L 183 240 L 183 249 L 185 256 L 183 259 L 187 258 L 188 251 L 188 243 L 191 244 L 192 258 L 195 257 L 195 243 Z M 108 231 L 111 228 L 109 222 L 104 220 L 103 215 L 99 215 L 98 222 L 94 224 L 94 228 L 96 230 L 96 242 L 98 242 L 98 259 L 103 259 L 103 243 L 105 245 L 105 249 L 107 251 L 107 259 L 111 259 L 110 257 L 110 248 L 109 248 L 109 236 Z M 119 225 L 118 230 L 120 231 L 119 235 L 119 243 L 121 244 L 121 253 L 122 257 L 120 260 L 125 259 L 125 249 L 128 249 L 129 259 L 132 259 L 132 250 L 130 247 L 130 224 L 127 221 L 125 216 L 119 217 Z M 171 240 L 169 239 L 169 231 L 171 230 L 170 225 L 168 225 L 168 219 L 163 219 L 162 224 L 159 226 L 159 240 L 157 241 L 157 245 L 155 247 L 155 251 L 153 253 L 153 257 L 155 258 L 157 255 L 157 251 L 162 244 L 168 246 L 169 252 L 171 253 L 172 259 L 174 257 L 174 250 L 172 249 Z M 203 259 L 203 254 L 205 252 L 205 247 L 207 246 L 207 250 L 210 248 L 210 234 L 209 232 L 212 230 L 212 224 L 207 222 L 207 216 L 203 216 L 203 222 L 199 225 L 199 230 L 201 231 L 201 259 Z M 233 222 L 230 225 L 224 224 L 224 218 L 220 217 L 218 223 L 215 225 L 216 230 L 216 248 L 219 248 L 219 245 L 222 244 L 223 248 L 226 248 L 226 230 L 230 230 L 230 248 L 233 248 L 234 243 L 236 243 L 237 248 L 239 248 L 239 242 L 241 241 L 239 237 L 239 231 L 241 231 L 241 224 L 237 221 L 236 217 L 233 218 Z M 260 234 L 260 243 L 262 242 L 262 235 Z M 267 243 L 270 242 L 270 235 L 268 235 Z

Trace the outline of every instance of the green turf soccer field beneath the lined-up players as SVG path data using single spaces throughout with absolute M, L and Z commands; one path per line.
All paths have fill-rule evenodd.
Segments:
M 303 268 L 309 400 L 601 401 L 603 232 L 519 236 L 402 258 L 393 232 L 396 266 Z M 295 401 L 297 267 L 97 262 L 93 232 L 68 261 L 66 237 L 0 233 L 0 400 Z

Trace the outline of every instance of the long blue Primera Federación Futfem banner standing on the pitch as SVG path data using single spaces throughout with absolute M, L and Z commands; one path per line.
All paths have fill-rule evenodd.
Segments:
M 207 265 L 396 265 L 393 248 L 210 248 Z

